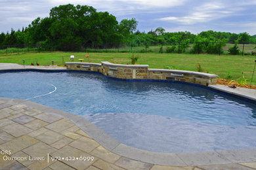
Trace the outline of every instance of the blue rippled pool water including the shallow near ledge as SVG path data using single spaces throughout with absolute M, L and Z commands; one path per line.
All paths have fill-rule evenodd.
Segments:
M 255 148 L 256 105 L 206 88 L 95 73 L 0 73 L 0 97 L 85 116 L 118 141 L 155 152 Z

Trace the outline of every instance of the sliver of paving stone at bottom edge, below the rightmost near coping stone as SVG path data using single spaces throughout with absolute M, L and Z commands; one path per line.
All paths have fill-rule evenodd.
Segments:
M 204 165 L 198 166 L 199 168 L 205 170 L 226 170 L 226 169 L 236 169 L 236 170 L 251 170 L 249 167 L 244 167 L 236 163 L 224 164 L 224 165 Z

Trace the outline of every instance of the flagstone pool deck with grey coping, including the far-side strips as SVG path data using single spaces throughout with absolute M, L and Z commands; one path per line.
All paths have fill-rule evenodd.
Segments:
M 1 67 L 0 63 L 0 70 L 23 67 L 5 65 Z M 237 91 L 252 96 L 255 92 Z M 0 150 L 0 169 L 256 169 L 256 148 L 179 154 L 149 152 L 119 143 L 82 116 L 1 97 Z M 11 160 L 14 158 L 18 160 Z

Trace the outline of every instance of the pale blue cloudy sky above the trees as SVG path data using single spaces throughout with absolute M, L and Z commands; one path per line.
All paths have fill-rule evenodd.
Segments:
M 0 0 L 0 32 L 28 26 L 58 5 L 90 5 L 118 21 L 136 18 L 140 31 L 226 31 L 256 35 L 256 0 Z

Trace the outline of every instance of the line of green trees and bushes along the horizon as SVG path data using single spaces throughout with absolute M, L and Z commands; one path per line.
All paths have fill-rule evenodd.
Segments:
M 60 5 L 51 9 L 49 17 L 36 18 L 28 27 L 11 33 L 1 33 L 0 46 L 36 44 L 41 50 L 81 51 L 85 48 L 114 48 L 129 46 L 167 45 L 166 52 L 184 52 L 193 43 L 190 52 L 221 53 L 226 43 L 256 43 L 248 33 L 202 31 L 198 35 L 189 31 L 166 32 L 163 27 L 140 32 L 135 18 L 117 22 L 108 12 L 97 12 L 87 5 Z M 136 31 L 137 30 L 137 31 Z M 231 49 L 235 50 L 235 49 Z M 236 48 L 237 50 L 237 48 Z

